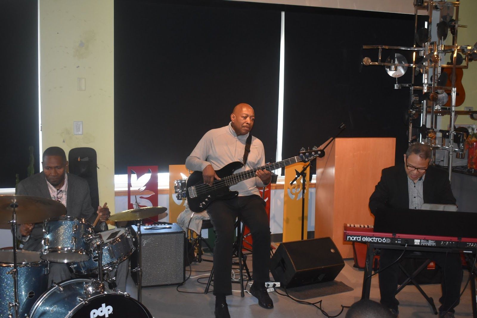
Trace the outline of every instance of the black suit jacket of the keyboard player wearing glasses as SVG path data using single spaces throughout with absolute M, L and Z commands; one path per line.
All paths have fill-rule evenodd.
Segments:
M 369 198 L 369 208 L 374 214 L 378 207 L 409 209 L 409 191 L 404 164 L 383 169 L 381 180 Z M 424 203 L 456 204 L 447 174 L 429 166 L 423 184 Z

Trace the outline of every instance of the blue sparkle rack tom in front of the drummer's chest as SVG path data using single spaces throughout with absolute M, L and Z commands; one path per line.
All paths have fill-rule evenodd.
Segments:
M 90 244 L 84 234 L 93 234 L 93 226 L 84 219 L 59 216 L 43 222 L 42 259 L 55 263 L 80 262 L 90 258 Z

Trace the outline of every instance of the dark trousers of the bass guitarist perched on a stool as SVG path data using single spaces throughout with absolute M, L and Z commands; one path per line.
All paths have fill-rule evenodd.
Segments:
M 216 233 L 214 247 L 214 295 L 232 294 L 232 244 L 235 219 L 240 216 L 250 229 L 253 238 L 253 279 L 270 280 L 270 223 L 265 211 L 265 201 L 258 195 L 215 201 L 207 213 Z

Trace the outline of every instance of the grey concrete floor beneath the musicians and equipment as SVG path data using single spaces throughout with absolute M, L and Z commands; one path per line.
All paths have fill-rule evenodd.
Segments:
M 205 258 L 211 259 L 211 255 L 205 254 Z M 251 255 L 247 260 L 247 264 L 251 270 Z M 192 264 L 192 275 L 185 285 L 178 287 L 181 291 L 189 292 L 203 292 L 206 285 L 197 282 L 197 276 L 205 277 L 200 279 L 201 282 L 207 282 L 208 273 L 199 271 L 209 271 L 212 267 L 212 263 L 202 262 Z M 187 267 L 186 277 L 189 274 Z M 238 270 L 236 271 L 238 272 Z M 462 287 L 464 287 L 468 279 L 468 273 L 464 272 L 464 280 Z M 273 277 L 270 275 L 270 280 Z M 321 298 L 307 299 L 310 302 L 316 302 L 322 300 L 322 308 L 330 316 L 337 315 L 343 306 L 351 306 L 354 302 L 361 298 L 361 288 L 363 283 L 363 270 L 353 267 L 353 260 L 345 260 L 345 266 L 336 277 L 337 281 L 341 281 L 344 284 L 353 288 L 352 291 L 330 295 Z M 379 287 L 378 277 L 372 277 L 371 283 L 371 296 L 370 298 L 379 301 Z M 156 317 L 214 317 L 214 305 L 215 297 L 212 293 L 208 294 L 186 294 L 176 290 L 177 286 L 158 286 L 158 287 L 145 287 L 142 292 L 142 303 L 149 309 L 151 314 Z M 441 296 L 440 285 L 425 285 L 422 286 L 424 291 L 429 297 L 433 297 L 436 303 L 436 307 L 439 307 L 438 299 Z M 257 299 L 252 297 L 248 293 L 245 293 L 245 297 L 240 297 L 240 285 L 233 284 L 232 289 L 238 290 L 233 292 L 232 296 L 227 297 L 228 308 L 230 316 L 232 318 L 239 317 L 277 317 L 277 318 L 298 318 L 298 317 L 326 317 L 321 311 L 310 305 L 303 305 L 294 302 L 288 297 L 280 296 L 275 292 L 270 293 L 270 297 L 274 302 L 273 309 L 264 309 L 259 307 Z M 461 289 L 462 290 L 462 289 Z M 137 296 L 137 289 L 131 277 L 128 277 L 126 291 L 131 294 L 132 297 Z M 425 318 L 425 317 L 437 317 L 431 311 L 431 307 L 427 304 L 426 300 L 418 292 L 415 286 L 406 286 L 398 294 L 399 317 L 413 317 L 413 318 Z M 471 295 L 470 284 L 467 286 L 466 291 L 461 297 L 460 304 L 456 307 L 456 317 L 472 317 L 471 307 Z M 339 317 L 343 317 L 346 314 L 346 308 L 343 310 Z

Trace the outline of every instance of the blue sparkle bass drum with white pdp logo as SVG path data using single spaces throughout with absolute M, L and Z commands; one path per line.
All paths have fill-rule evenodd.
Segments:
M 127 294 L 89 293 L 90 279 L 70 279 L 48 289 L 33 305 L 30 318 L 152 318 L 149 310 Z

